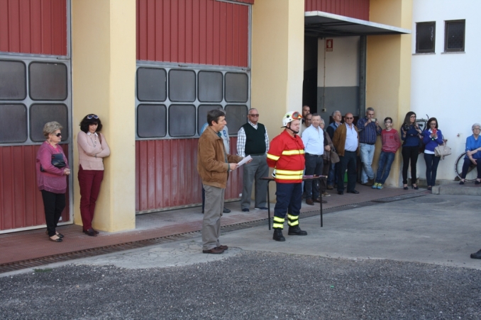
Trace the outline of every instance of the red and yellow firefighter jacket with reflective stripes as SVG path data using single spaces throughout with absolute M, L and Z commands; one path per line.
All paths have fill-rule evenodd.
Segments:
M 272 139 L 267 152 L 267 165 L 275 168 L 276 182 L 301 183 L 304 164 L 304 144 L 298 135 L 292 137 L 284 130 Z

